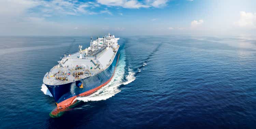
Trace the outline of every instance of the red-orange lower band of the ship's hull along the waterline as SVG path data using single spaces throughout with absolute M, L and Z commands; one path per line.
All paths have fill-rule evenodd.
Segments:
M 120 54 L 119 54 L 119 55 L 120 55 Z M 116 66 L 117 66 L 117 62 L 118 62 L 118 59 L 119 59 L 119 55 L 118 55 L 118 57 L 117 57 Z M 116 66 L 115 66 L 115 70 L 116 70 Z M 64 100 L 64 101 L 62 101 L 62 102 L 60 102 L 59 104 L 57 104 L 57 107 L 69 107 L 69 106 L 71 106 L 71 105 L 74 103 L 73 101 L 74 101 L 74 99 L 75 99 L 76 97 L 90 95 L 91 93 L 93 93 L 93 92 L 99 90 L 101 87 L 105 86 L 106 84 L 108 84 L 108 83 L 111 81 L 111 79 L 113 78 L 113 76 L 114 76 L 114 74 L 115 74 L 115 70 L 114 70 L 114 73 L 113 73 L 113 75 L 111 76 L 111 78 L 110 78 L 108 81 L 106 81 L 104 84 L 102 84 L 102 85 L 100 85 L 100 86 L 98 86 L 98 87 L 96 87 L 96 88 L 94 88 L 94 89 L 91 89 L 91 90 L 89 90 L 89 91 L 86 91 L 86 92 L 84 92 L 84 93 L 81 93 L 81 94 L 79 94 L 79 95 L 70 97 L 70 98 L 68 98 L 68 99 L 66 99 L 66 100 Z

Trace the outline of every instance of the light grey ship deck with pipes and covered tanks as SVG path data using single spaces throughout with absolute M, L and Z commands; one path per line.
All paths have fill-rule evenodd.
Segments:
M 99 47 L 104 49 L 98 49 L 100 51 L 97 51 L 98 53 L 93 57 L 88 55 L 88 48 L 80 53 L 63 57 L 58 65 L 45 74 L 44 84 L 52 86 L 68 84 L 104 71 L 110 66 L 116 53 L 113 47 L 106 47 L 105 44 Z

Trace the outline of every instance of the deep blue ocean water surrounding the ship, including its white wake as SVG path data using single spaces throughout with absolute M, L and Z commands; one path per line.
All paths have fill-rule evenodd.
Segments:
M 254 37 L 120 37 L 114 78 L 60 118 L 42 79 L 89 36 L 0 37 L 0 128 L 255 128 Z

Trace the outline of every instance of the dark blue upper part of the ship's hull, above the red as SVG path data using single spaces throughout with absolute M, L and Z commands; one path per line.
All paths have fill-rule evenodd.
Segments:
M 73 96 L 77 96 L 81 93 L 90 91 L 94 88 L 97 88 L 98 86 L 103 85 L 105 82 L 111 79 L 117 64 L 118 55 L 119 52 L 117 52 L 112 64 L 106 70 L 100 72 L 97 75 L 79 80 L 83 83 L 83 88 L 76 86 L 78 81 L 56 86 L 45 85 L 53 95 L 57 104 Z

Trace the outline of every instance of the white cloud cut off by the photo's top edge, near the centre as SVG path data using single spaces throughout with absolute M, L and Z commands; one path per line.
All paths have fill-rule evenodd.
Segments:
M 97 0 L 98 3 L 107 6 L 121 6 L 124 8 L 148 8 L 166 6 L 168 0 L 147 0 L 147 3 L 138 0 Z

